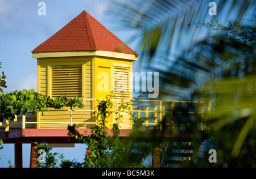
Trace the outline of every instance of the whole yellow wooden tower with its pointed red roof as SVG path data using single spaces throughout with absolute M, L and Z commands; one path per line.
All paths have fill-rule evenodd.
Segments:
M 34 49 L 32 56 L 38 60 L 39 93 L 85 99 L 82 110 L 51 109 L 38 114 L 38 129 L 66 129 L 70 122 L 90 128 L 96 122 L 95 99 L 105 99 L 106 95 L 115 95 L 115 99 L 133 97 L 131 73 L 138 54 L 86 11 Z M 121 127 L 130 129 L 131 125 Z

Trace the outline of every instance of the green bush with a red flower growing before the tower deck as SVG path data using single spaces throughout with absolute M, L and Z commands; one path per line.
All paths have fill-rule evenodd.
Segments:
M 94 113 L 98 117 L 98 123 L 92 128 L 88 134 L 80 134 L 76 129 L 76 125 L 68 126 L 69 135 L 74 136 L 77 141 L 84 143 L 87 146 L 84 162 L 79 163 L 75 160 L 65 160 L 63 155 L 60 155 L 60 165 L 62 168 L 115 168 L 115 167 L 145 167 L 143 160 L 150 155 L 152 151 L 151 143 L 143 143 L 139 140 L 142 127 L 142 121 L 132 118 L 137 125 L 134 126 L 134 133 L 129 138 L 119 138 L 118 123 L 113 124 L 112 134 L 108 130 L 108 117 L 113 113 L 113 96 L 107 96 L 106 100 L 98 101 L 97 110 Z M 116 114 L 130 109 L 130 102 L 121 103 L 121 107 L 115 111 Z M 129 112 L 128 112 L 129 113 Z M 122 116 L 119 115 L 115 120 L 121 121 Z M 139 142 L 138 142 L 139 141 Z M 51 148 L 43 145 L 47 152 Z M 42 148 L 42 146 L 39 146 Z M 57 154 L 47 153 L 46 164 L 36 163 L 38 167 L 56 166 Z M 55 159 L 53 159 L 55 158 Z

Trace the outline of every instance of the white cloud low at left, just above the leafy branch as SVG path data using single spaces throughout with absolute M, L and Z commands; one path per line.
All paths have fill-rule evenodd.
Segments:
M 36 74 L 30 74 L 24 78 L 17 78 L 17 79 L 8 79 L 6 80 L 7 88 L 4 88 L 4 92 L 11 92 L 11 91 L 21 91 L 23 89 L 30 90 L 35 89 L 37 91 L 37 80 L 38 77 Z

